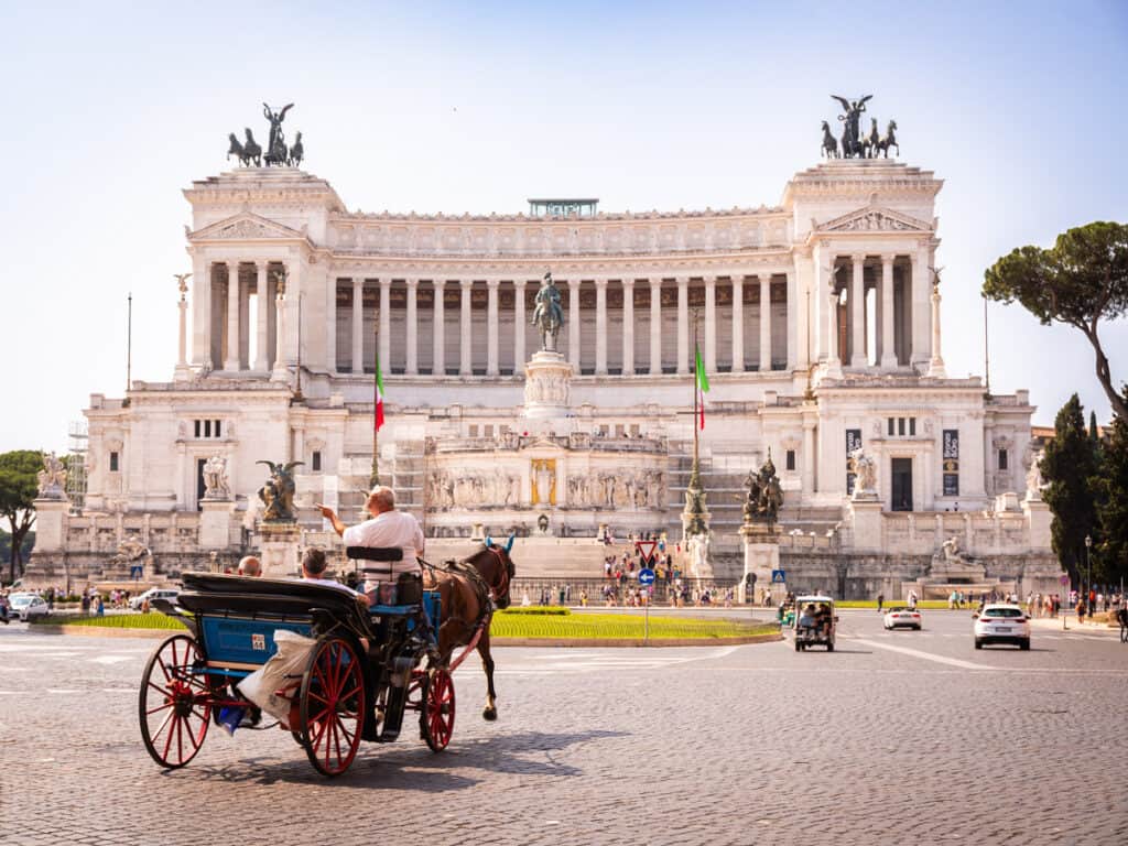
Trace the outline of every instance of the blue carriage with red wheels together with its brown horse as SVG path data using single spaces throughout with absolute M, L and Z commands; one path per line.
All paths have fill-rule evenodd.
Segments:
M 441 751 L 455 728 L 451 673 L 475 647 L 487 672 L 485 716 L 496 714 L 488 626 L 494 599 L 500 607 L 509 603 L 512 562 L 508 548 L 492 550 L 492 556 L 479 553 L 461 565 L 438 567 L 449 578 L 413 597 L 416 601 L 370 607 L 324 584 L 185 573 L 175 605 L 160 602 L 159 610 L 183 620 L 188 633 L 164 641 L 141 680 L 146 749 L 162 767 L 188 764 L 221 712 L 255 713 L 239 682 L 297 635 L 310 638 L 298 653 L 303 658 L 308 651 L 308 658 L 272 686 L 271 710 L 318 772 L 344 773 L 361 740 L 395 740 L 407 712 L 418 714 L 421 738 Z M 349 549 L 354 559 L 387 562 L 398 555 L 398 549 Z M 476 599 L 458 596 L 458 579 Z M 466 649 L 451 662 L 457 645 Z M 250 728 L 275 725 L 266 713 L 262 722 Z

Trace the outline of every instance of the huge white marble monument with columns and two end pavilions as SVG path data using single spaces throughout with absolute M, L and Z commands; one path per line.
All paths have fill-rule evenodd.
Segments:
M 157 566 L 236 556 L 261 540 L 267 458 L 303 462 L 298 523 L 332 543 L 314 503 L 360 508 L 377 356 L 381 479 L 434 549 L 475 527 L 576 549 L 605 530 L 680 538 L 696 328 L 711 381 L 700 575 L 740 575 L 741 481 L 770 452 L 797 588 L 896 596 L 957 535 L 992 578 L 1056 576 L 1026 483 L 1029 394 L 944 369 L 931 170 L 855 153 L 795 174 L 774 206 L 532 200 L 529 215 L 459 217 L 350 211 L 299 167 L 250 164 L 184 192 L 179 360 L 127 403 L 91 397 L 86 510 L 60 518 L 54 549 L 41 532 L 44 566 L 97 567 L 134 532 Z M 874 468 L 864 501 L 857 450 Z M 228 500 L 205 496 L 215 456 Z

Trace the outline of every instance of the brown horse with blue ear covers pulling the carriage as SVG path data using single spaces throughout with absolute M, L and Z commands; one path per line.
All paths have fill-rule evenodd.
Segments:
M 512 546 L 512 537 L 504 546 L 486 538 L 481 549 L 459 562 L 424 567 L 424 585 L 429 590 L 438 590 L 442 599 L 439 656 L 443 666 L 450 663 L 456 649 L 466 646 L 477 636 L 482 669 L 486 673 L 486 706 L 482 711 L 486 720 L 497 719 L 490 623 L 494 607 L 509 608 L 509 585 L 515 572 L 513 559 L 509 557 Z

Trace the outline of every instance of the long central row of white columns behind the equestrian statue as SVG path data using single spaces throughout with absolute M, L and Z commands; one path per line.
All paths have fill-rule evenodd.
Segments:
M 777 275 L 783 275 L 777 274 Z M 402 277 L 402 276 L 387 276 L 379 279 L 371 279 L 369 276 L 335 276 L 335 287 L 337 290 L 343 289 L 344 291 L 351 290 L 351 297 L 347 298 L 352 302 L 350 308 L 351 315 L 346 319 L 349 326 L 349 335 L 351 338 L 351 355 L 338 355 L 336 362 L 337 367 L 342 369 L 351 370 L 354 373 L 363 372 L 365 369 L 371 369 L 372 362 L 370 361 L 371 355 L 365 356 L 364 351 L 364 338 L 365 334 L 371 332 L 371 323 L 369 323 L 369 328 L 365 328 L 364 324 L 364 308 L 362 303 L 364 302 L 364 292 L 369 291 L 369 296 L 372 296 L 374 290 L 379 291 L 379 356 L 381 362 L 381 369 L 385 372 L 390 371 L 391 358 L 391 344 L 395 335 L 395 343 L 397 346 L 397 361 L 402 362 L 402 372 L 408 376 L 421 374 L 425 369 L 421 369 L 420 363 L 420 321 L 423 317 L 422 309 L 418 305 L 418 294 L 421 287 L 423 290 L 430 289 L 431 293 L 431 315 L 429 325 L 431 327 L 431 362 L 432 367 L 430 372 L 433 374 L 444 374 L 448 372 L 448 368 L 453 370 L 452 364 L 457 364 L 458 376 L 472 376 L 475 372 L 484 372 L 486 376 L 499 376 L 501 374 L 501 323 L 503 317 L 503 310 L 500 305 L 501 293 L 504 291 L 506 293 L 506 301 L 512 305 L 505 308 L 509 315 L 504 315 L 506 321 L 512 316 L 513 320 L 513 332 L 512 332 L 512 351 L 513 351 L 513 369 L 514 371 L 520 371 L 522 365 L 528 359 L 528 355 L 532 350 L 528 350 L 527 346 L 527 325 L 528 325 L 528 309 L 526 307 L 526 298 L 529 297 L 537 288 L 540 285 L 539 280 L 510 280 L 510 279 L 497 279 L 490 277 L 484 280 L 474 279 L 462 279 L 457 281 L 446 280 L 446 279 L 420 279 L 417 276 Z M 672 285 L 668 282 L 668 279 L 672 279 Z M 758 287 L 759 293 L 759 318 L 758 318 L 758 361 L 746 361 L 746 349 L 744 349 L 744 285 L 746 276 L 743 274 L 730 274 L 723 276 L 728 280 L 728 284 L 731 285 L 731 302 L 732 302 L 732 316 L 731 316 L 731 336 L 732 336 L 732 349 L 731 356 L 725 358 L 731 359 L 731 363 L 726 369 L 731 372 L 744 372 L 747 370 L 768 371 L 773 369 L 773 364 L 776 367 L 781 365 L 782 362 L 773 362 L 772 347 L 773 347 L 773 315 L 772 315 L 772 274 L 754 275 L 749 277 L 748 284 L 754 284 Z M 614 349 L 614 340 L 611 338 L 609 331 L 609 309 L 608 309 L 608 293 L 609 291 L 615 291 L 616 299 L 622 298 L 622 319 L 617 321 L 615 331 L 620 334 L 618 340 L 622 344 L 620 351 L 616 350 L 618 361 L 616 364 L 617 372 L 631 376 L 638 372 L 647 372 L 651 374 L 659 374 L 663 372 L 663 363 L 669 368 L 672 365 L 677 373 L 688 373 L 693 367 L 693 355 L 694 351 L 691 349 L 691 314 L 689 307 L 690 300 L 690 287 L 702 287 L 704 288 L 704 317 L 703 323 L 699 325 L 698 331 L 698 343 L 702 349 L 702 355 L 705 359 L 705 365 L 710 371 L 716 371 L 717 369 L 717 347 L 719 347 L 719 307 L 717 307 L 717 280 L 719 276 L 707 275 L 707 276 L 696 276 L 693 277 L 691 283 L 690 276 L 675 276 L 675 277 L 662 277 L 662 276 L 650 276 L 644 280 L 637 280 L 632 276 L 623 277 L 607 277 L 599 276 L 596 279 L 569 279 L 569 280 L 557 280 L 557 288 L 561 289 L 562 293 L 565 293 L 565 299 L 567 305 L 565 307 L 565 328 L 562 333 L 563 337 L 559 338 L 558 349 L 566 349 L 566 354 L 569 361 L 580 370 L 581 358 L 584 359 L 584 364 L 590 364 L 590 350 L 591 346 L 594 347 L 594 367 L 590 369 L 589 372 L 593 372 L 597 376 L 605 376 L 610 372 L 608 362 L 610 358 L 610 351 Z M 649 282 L 649 362 L 644 369 L 640 369 L 636 365 L 635 355 L 635 329 L 636 329 L 636 314 L 635 314 L 635 290 L 636 283 L 642 284 Z M 671 288 L 676 288 L 677 291 L 677 306 L 676 306 L 676 334 L 677 334 L 677 352 L 673 360 L 670 361 L 670 355 L 663 356 L 663 332 L 667 329 L 669 324 L 663 325 L 663 306 L 662 306 L 662 290 L 663 283 L 668 291 Z M 391 327 L 391 289 L 393 285 L 397 289 L 397 303 L 402 305 L 403 311 L 399 312 L 397 308 L 397 315 L 403 314 L 405 325 L 397 325 L 393 332 Z M 485 325 L 482 326 L 481 323 L 475 324 L 474 319 L 474 292 L 485 291 Z M 449 292 L 452 290 L 458 291 L 458 356 L 457 362 L 450 362 L 447 358 L 447 315 L 446 309 L 450 305 L 448 302 Z M 400 299 L 402 291 L 402 299 Z M 590 299 L 588 298 L 588 292 L 593 291 L 594 293 L 594 308 L 592 309 Z M 481 296 L 481 293 L 479 293 Z M 584 303 L 583 301 L 588 302 Z M 331 333 L 337 332 L 337 314 L 336 310 L 340 308 L 337 298 L 329 297 L 328 301 L 334 303 L 334 308 L 331 314 L 327 315 L 326 329 Z M 481 300 L 478 300 L 481 303 Z M 787 302 L 787 309 L 791 309 L 792 303 Z M 481 306 L 479 306 L 481 308 Z M 697 309 L 694 309 L 695 311 Z M 594 314 L 592 314 L 592 311 Z M 618 315 L 617 315 L 618 317 Z M 784 331 L 790 332 L 786 324 L 792 319 L 791 315 L 787 314 L 787 318 L 784 321 Z M 371 321 L 371 312 L 369 316 L 369 321 Z M 581 338 L 590 337 L 590 326 L 593 324 L 593 344 L 582 343 Z M 589 327 L 589 328 L 583 328 Z M 484 355 L 481 353 L 481 345 L 473 343 L 474 332 L 484 331 L 485 332 L 485 352 Z M 340 343 L 340 341 L 338 341 Z M 399 345 L 403 344 L 404 352 L 399 353 Z M 347 349 L 347 347 L 346 347 Z M 640 354 L 645 354 L 645 346 L 641 347 Z M 478 350 L 476 354 L 476 350 Z M 584 351 L 581 355 L 581 351 Z M 343 352 L 343 351 L 342 351 Z M 508 358 L 508 351 L 506 351 Z M 479 360 L 484 359 L 484 361 Z M 664 362 L 663 362 L 664 359 Z M 794 365 L 795 362 L 787 362 L 787 365 Z

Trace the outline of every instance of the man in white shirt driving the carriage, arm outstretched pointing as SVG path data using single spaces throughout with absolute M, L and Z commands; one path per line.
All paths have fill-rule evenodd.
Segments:
M 423 572 L 417 558 L 423 556 L 423 530 L 414 514 L 396 510 L 396 494 L 390 487 L 377 485 L 372 488 L 365 508 L 373 517 L 356 526 L 345 528 L 333 509 L 326 505 L 318 508 L 321 515 L 333 523 L 345 546 L 402 549 L 402 561 L 379 562 L 376 569 L 387 572 L 398 583 L 400 602 L 405 599 L 407 602 L 418 601 Z

